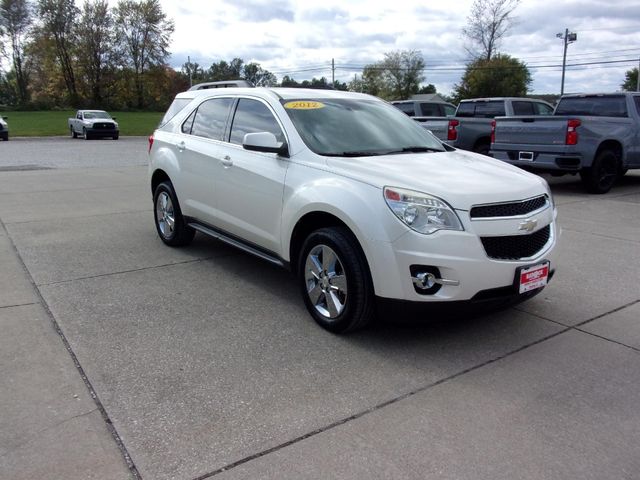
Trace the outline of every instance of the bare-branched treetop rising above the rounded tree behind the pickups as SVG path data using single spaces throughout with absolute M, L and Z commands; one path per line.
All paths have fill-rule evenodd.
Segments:
M 462 34 L 472 43 L 465 47 L 474 59 L 491 60 L 500 41 L 514 24 L 513 12 L 521 0 L 474 0 Z

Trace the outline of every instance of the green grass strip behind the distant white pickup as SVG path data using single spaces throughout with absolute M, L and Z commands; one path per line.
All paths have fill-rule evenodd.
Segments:
M 161 112 L 109 112 L 116 117 L 120 135 L 151 135 L 164 115 Z M 0 112 L 7 117 L 12 137 L 53 137 L 69 135 L 67 119 L 75 110 L 41 112 Z

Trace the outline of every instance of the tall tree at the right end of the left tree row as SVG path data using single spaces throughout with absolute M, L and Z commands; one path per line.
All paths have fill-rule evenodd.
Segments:
M 116 35 L 126 66 L 133 67 L 137 106 L 144 107 L 145 73 L 169 56 L 173 21 L 162 11 L 159 0 L 120 0 L 115 9 Z

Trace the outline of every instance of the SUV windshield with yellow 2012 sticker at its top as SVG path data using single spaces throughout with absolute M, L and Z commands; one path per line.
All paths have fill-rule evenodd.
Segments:
M 282 104 L 305 144 L 326 156 L 444 151 L 428 131 L 380 100 L 304 99 Z

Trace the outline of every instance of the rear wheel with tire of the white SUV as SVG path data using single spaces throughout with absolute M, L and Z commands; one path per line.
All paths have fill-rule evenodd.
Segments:
M 171 247 L 188 245 L 196 234 L 185 224 L 178 197 L 171 182 L 162 182 L 153 195 L 156 231 L 160 239 Z

